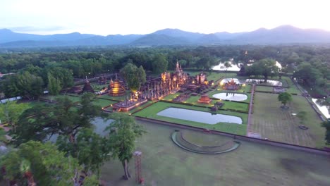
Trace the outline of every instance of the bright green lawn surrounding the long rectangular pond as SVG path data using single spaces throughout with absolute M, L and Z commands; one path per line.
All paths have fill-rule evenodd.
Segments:
M 182 104 L 171 104 L 171 103 L 164 103 L 164 102 L 157 102 L 156 104 L 153 104 L 152 106 L 147 107 L 146 109 L 143 109 L 142 111 L 139 111 L 134 114 L 134 116 L 140 116 L 143 118 L 153 118 L 157 120 L 164 120 L 169 121 L 173 123 L 179 123 L 183 125 L 190 125 L 200 128 L 208 128 L 212 130 L 219 130 L 223 132 L 230 132 L 233 134 L 238 135 L 245 135 L 246 134 L 246 123 L 247 123 L 247 114 L 246 113 L 237 113 L 237 112 L 230 112 L 230 111 L 217 111 L 216 113 L 231 115 L 231 116 L 238 116 L 242 118 L 243 124 L 238 125 L 234 123 L 217 123 L 215 125 L 209 125 L 205 123 L 198 123 L 193 122 L 190 120 L 181 120 L 176 118 L 169 118 L 164 116 L 158 116 L 157 113 L 160 111 L 163 111 L 164 109 L 170 108 L 170 107 L 177 107 L 182 109 L 191 109 L 196 111 L 204 111 L 204 112 L 210 112 L 209 108 L 201 108 L 197 106 L 185 106 Z

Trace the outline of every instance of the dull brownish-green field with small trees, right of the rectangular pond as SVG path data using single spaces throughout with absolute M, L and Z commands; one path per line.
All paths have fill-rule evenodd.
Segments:
M 298 144 L 306 147 L 324 146 L 325 130 L 315 111 L 310 107 L 304 97 L 293 96 L 289 109 L 281 109 L 281 103 L 277 100 L 278 94 L 255 94 L 252 114 L 251 132 L 257 132 L 262 137 L 278 142 Z M 300 120 L 292 113 L 306 112 L 306 120 L 303 125 L 308 130 L 298 128 Z

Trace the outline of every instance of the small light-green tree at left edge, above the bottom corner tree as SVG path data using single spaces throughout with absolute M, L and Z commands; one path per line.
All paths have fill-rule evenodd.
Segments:
M 18 123 L 20 114 L 28 108 L 29 106 L 27 104 L 7 101 L 4 104 L 0 104 L 0 120 L 1 122 L 7 122 L 13 130 L 16 130 L 16 123 Z

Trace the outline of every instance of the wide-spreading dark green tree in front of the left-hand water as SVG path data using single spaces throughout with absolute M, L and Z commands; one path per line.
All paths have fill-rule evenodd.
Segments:
M 33 106 L 25 110 L 18 120 L 16 131 L 11 131 L 13 143 L 29 140 L 44 141 L 52 135 L 66 135 L 75 142 L 82 128 L 91 128 L 92 119 L 102 116 L 101 108 L 92 104 L 94 94 L 83 94 L 80 108 L 67 97 L 56 99 L 56 104 Z

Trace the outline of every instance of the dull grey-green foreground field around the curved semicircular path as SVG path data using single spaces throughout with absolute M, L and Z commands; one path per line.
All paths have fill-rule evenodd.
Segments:
M 140 122 L 138 122 L 140 123 Z M 176 128 L 141 123 L 147 134 L 139 138 L 142 151 L 142 175 L 145 185 L 329 185 L 329 156 L 310 154 L 265 144 L 240 141 L 240 147 L 218 155 L 194 154 L 177 147 L 170 139 Z M 204 138 L 225 142 L 231 138 L 191 132 L 190 140 L 205 143 Z M 207 135 L 207 137 L 205 137 Z M 129 163 L 132 178 L 121 180 L 121 163 L 111 160 L 102 167 L 106 185 L 135 183 L 134 159 Z

